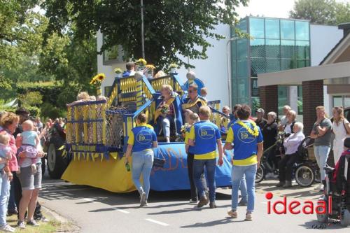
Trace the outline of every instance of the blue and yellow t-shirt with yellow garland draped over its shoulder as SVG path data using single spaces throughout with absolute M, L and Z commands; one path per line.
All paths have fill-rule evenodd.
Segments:
M 254 129 L 257 127 L 251 120 L 242 120 L 248 127 Z M 257 164 L 257 150 L 258 143 L 262 143 L 262 134 L 260 127 L 258 127 L 258 136 L 253 136 L 249 134 L 247 129 L 241 127 L 237 122 L 233 124 L 228 130 L 228 136 L 226 142 L 233 143 L 233 148 L 235 149 L 235 155 L 233 156 L 233 164 L 237 166 L 248 166 Z

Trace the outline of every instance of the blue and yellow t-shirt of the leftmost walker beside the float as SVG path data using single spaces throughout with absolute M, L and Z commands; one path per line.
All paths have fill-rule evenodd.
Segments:
M 129 139 L 127 139 L 127 143 L 132 145 L 133 152 L 151 150 L 154 141 L 157 141 L 157 134 L 155 134 L 153 127 L 147 124 L 134 127 L 130 132 Z

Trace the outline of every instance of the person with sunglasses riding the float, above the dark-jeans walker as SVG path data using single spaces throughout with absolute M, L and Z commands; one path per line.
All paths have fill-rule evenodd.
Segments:
M 183 99 L 182 110 L 185 114 L 186 122 L 191 113 L 200 113 L 200 107 L 207 106 L 207 101 L 198 95 L 198 86 L 191 84 L 188 87 L 188 96 Z

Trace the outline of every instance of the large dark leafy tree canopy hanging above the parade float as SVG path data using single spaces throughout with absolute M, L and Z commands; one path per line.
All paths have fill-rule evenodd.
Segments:
M 145 0 L 145 54 L 149 62 L 163 68 L 170 62 L 189 66 L 177 54 L 190 59 L 207 58 L 211 46 L 207 38 L 223 38 L 216 25 L 238 22 L 236 8 L 247 0 Z M 139 0 L 47 0 L 42 5 L 52 31 L 63 33 L 66 25 L 76 25 L 79 39 L 90 38 L 97 31 L 104 34 L 102 51 L 122 45 L 127 55 L 141 57 L 141 17 Z

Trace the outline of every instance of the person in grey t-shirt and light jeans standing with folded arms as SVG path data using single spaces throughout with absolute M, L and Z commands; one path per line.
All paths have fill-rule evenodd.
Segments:
M 320 168 L 321 181 L 325 179 L 325 163 L 330 153 L 330 136 L 332 130 L 332 122 L 325 117 L 325 107 L 318 106 L 316 108 L 317 120 L 312 127 L 310 137 L 315 139 L 314 141 L 314 153 L 318 167 Z M 323 190 L 323 184 L 320 183 L 316 190 Z

